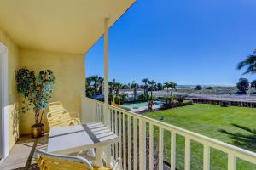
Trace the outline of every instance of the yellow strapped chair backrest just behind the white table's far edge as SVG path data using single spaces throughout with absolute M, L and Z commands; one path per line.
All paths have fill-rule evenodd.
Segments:
M 67 127 L 72 123 L 69 112 L 65 109 L 49 111 L 46 117 L 49 123 L 49 128 Z

